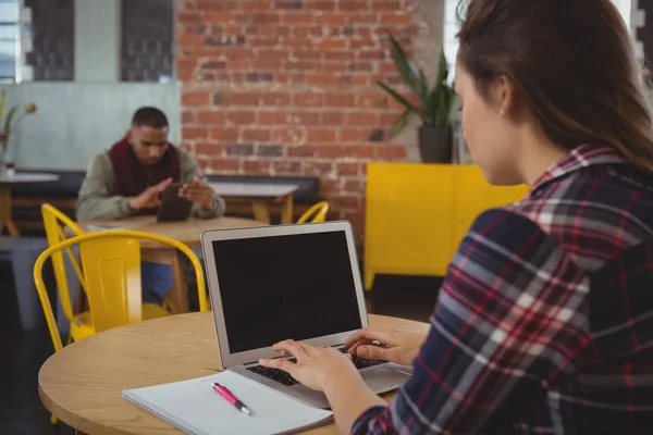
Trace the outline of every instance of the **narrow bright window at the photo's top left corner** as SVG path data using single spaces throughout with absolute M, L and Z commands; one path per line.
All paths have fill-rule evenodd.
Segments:
M 0 80 L 20 80 L 19 0 L 0 0 Z

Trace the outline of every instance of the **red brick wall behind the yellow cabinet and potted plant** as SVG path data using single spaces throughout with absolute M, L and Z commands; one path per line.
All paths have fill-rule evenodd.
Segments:
M 401 108 L 385 42 L 411 50 L 414 0 L 184 0 L 177 12 L 183 146 L 209 173 L 321 178 L 335 216 L 364 229 L 366 163 Z M 423 35 L 422 35 L 423 36 Z

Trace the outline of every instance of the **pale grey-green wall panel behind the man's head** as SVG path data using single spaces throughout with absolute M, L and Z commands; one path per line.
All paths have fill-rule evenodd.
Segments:
M 12 132 L 9 156 L 17 167 L 86 169 L 94 154 L 123 137 L 143 105 L 161 109 L 171 124 L 169 140 L 180 142 L 176 84 L 34 82 L 2 88 L 10 104 L 38 107 Z

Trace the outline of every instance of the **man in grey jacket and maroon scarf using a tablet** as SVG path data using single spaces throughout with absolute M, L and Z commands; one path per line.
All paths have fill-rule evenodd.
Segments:
M 90 162 L 77 198 L 77 221 L 157 214 L 161 194 L 173 182 L 184 184 L 178 195 L 193 202 L 193 215 L 223 215 L 222 198 L 207 184 L 193 156 L 168 141 L 168 133 L 163 112 L 138 109 L 125 137 Z M 143 301 L 161 304 L 172 288 L 171 268 L 143 262 L 141 276 Z

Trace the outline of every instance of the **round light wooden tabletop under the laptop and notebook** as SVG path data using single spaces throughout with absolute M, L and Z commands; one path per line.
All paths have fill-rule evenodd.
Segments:
M 379 328 L 429 325 L 369 316 Z M 212 312 L 180 314 L 109 330 L 66 346 L 38 373 L 46 408 L 88 434 L 178 434 L 177 428 L 123 399 L 125 388 L 186 381 L 221 370 Z M 392 395 L 390 395 L 392 396 Z M 390 397 L 387 396 L 387 397 Z M 334 434 L 334 425 L 310 431 Z

